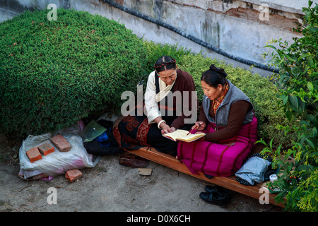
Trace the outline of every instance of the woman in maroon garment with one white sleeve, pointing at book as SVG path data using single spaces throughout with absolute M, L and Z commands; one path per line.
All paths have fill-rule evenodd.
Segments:
M 175 59 L 169 56 L 160 57 L 154 65 L 155 71 L 148 76 L 144 96 L 143 115 L 129 115 L 122 119 L 113 133 L 121 148 L 137 150 L 152 146 L 162 153 L 177 155 L 177 142 L 163 137 L 176 129 L 190 129 L 196 121 L 185 119 L 193 115 L 184 114 L 188 109 L 196 115 L 198 103 L 195 95 L 194 80 L 189 73 L 177 69 Z M 187 99 L 185 101 L 184 99 Z M 195 99 L 195 101 L 194 101 Z M 194 104 L 195 103 L 195 104 Z M 193 107 L 192 107 L 193 106 Z M 139 109 L 135 109 L 135 113 Z M 193 109 L 192 109 L 193 108 Z

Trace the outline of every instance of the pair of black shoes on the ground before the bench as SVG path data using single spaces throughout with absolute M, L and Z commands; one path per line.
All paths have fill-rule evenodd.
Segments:
M 210 204 L 226 207 L 230 203 L 230 192 L 220 186 L 209 186 L 205 188 L 206 192 L 200 193 L 200 198 Z

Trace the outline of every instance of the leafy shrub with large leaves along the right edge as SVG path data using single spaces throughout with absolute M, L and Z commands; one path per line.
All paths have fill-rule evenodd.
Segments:
M 303 37 L 295 38 L 292 44 L 273 40 L 279 48 L 274 49 L 270 64 L 280 69 L 274 75 L 279 88 L 281 105 L 286 118 L 299 121 L 299 126 L 281 126 L 285 131 L 297 133 L 291 148 L 264 152 L 275 157 L 274 165 L 280 167 L 280 177 L 272 186 L 278 187 L 276 201 L 285 202 L 285 210 L 318 210 L 318 4 L 302 8 L 304 25 L 296 30 Z M 285 162 L 291 156 L 295 162 Z M 284 199 L 285 198 L 285 199 Z

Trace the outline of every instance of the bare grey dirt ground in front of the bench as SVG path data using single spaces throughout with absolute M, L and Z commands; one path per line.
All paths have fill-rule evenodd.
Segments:
M 50 181 L 18 177 L 18 150 L 22 141 L 0 135 L 1 212 L 281 212 L 282 208 L 231 191 L 230 204 L 220 206 L 199 198 L 208 183 L 174 169 L 148 162 L 153 169 L 141 176 L 136 168 L 119 165 L 116 155 L 102 156 L 83 177 L 69 182 L 64 174 Z M 57 195 L 52 203 L 52 188 Z M 51 203 L 51 204 L 50 204 Z

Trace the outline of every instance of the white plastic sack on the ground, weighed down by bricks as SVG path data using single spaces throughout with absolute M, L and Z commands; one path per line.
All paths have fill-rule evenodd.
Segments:
M 84 148 L 81 136 L 75 130 L 64 129 L 58 131 L 61 136 L 66 138 L 71 144 L 71 150 L 68 152 L 60 152 L 54 144 L 49 141 L 49 138 L 56 134 L 44 133 L 39 136 L 29 135 L 22 143 L 19 150 L 20 169 L 37 170 L 48 176 L 54 177 L 59 174 L 64 174 L 69 169 L 83 169 L 86 167 L 95 167 L 98 160 L 93 162 L 93 155 L 87 153 Z M 33 163 L 30 162 L 26 152 L 30 148 L 37 147 L 42 143 L 49 142 L 54 147 L 54 152 L 49 155 L 42 155 L 42 160 L 37 160 Z

